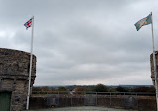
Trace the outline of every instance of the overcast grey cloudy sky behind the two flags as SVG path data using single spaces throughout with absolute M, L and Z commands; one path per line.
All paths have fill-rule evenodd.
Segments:
M 0 0 L 0 47 L 30 52 L 33 15 L 35 85 L 151 85 L 153 12 L 158 49 L 158 0 Z

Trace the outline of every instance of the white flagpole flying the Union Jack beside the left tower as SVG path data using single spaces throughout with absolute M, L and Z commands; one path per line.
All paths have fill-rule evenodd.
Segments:
M 29 98 L 30 98 L 30 86 L 31 86 L 31 73 L 32 73 L 32 52 L 33 52 L 33 31 L 34 31 L 34 16 L 32 17 L 32 36 L 31 36 L 31 55 L 30 55 L 30 71 L 29 71 L 29 85 L 28 85 L 28 95 L 27 95 L 27 105 L 26 109 L 29 109 Z

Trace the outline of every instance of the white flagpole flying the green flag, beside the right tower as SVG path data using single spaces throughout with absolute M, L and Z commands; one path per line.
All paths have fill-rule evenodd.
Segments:
M 154 47 L 154 32 L 153 32 L 153 18 L 151 12 L 151 30 L 152 30 L 152 43 L 153 43 L 153 64 L 154 64 L 154 76 L 155 76 L 155 89 L 156 89 L 156 102 L 157 102 L 157 111 L 158 111 L 158 87 L 157 87 L 157 69 L 156 69 L 156 60 L 155 60 L 155 47 Z

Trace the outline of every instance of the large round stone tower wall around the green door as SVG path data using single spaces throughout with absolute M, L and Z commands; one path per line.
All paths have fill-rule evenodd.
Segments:
M 26 108 L 30 53 L 0 48 L 0 92 L 11 93 L 10 111 Z M 36 77 L 36 56 L 33 55 L 31 88 Z

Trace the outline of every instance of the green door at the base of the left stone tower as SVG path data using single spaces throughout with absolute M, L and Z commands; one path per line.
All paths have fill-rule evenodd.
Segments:
M 0 110 L 10 111 L 11 93 L 0 93 Z

